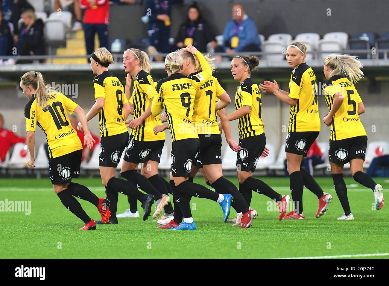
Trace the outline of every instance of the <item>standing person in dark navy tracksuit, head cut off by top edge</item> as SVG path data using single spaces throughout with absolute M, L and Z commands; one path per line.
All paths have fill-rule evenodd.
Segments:
M 182 1 L 175 0 L 146 0 L 143 23 L 148 23 L 150 45 L 159 53 L 170 53 L 173 47 L 169 44 L 170 15 L 172 4 Z

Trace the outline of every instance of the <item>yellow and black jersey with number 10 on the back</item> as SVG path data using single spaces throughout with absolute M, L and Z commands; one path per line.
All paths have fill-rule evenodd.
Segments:
M 82 149 L 76 130 L 70 124 L 70 114 L 78 105 L 60 92 L 53 92 L 45 107 L 37 104 L 32 95 L 25 107 L 26 130 L 34 131 L 39 126 L 49 145 L 49 158 L 56 158 Z

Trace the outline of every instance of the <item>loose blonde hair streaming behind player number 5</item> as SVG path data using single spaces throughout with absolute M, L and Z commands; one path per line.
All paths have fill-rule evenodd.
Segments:
M 349 54 L 329 54 L 324 59 L 324 65 L 331 68 L 329 77 L 332 75 L 344 75 L 354 84 L 363 78 L 361 68 L 363 65 L 356 56 Z

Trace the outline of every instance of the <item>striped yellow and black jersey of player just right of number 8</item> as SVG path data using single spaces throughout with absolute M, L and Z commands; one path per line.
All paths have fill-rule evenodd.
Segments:
M 130 104 L 134 106 L 134 119 L 141 116 L 150 106 L 151 98 L 158 98 L 155 90 L 155 82 L 150 74 L 141 70 L 135 77 L 134 88 L 130 98 Z M 131 129 L 131 136 L 134 140 L 139 141 L 156 141 L 165 140 L 165 132 L 154 134 L 154 127 L 162 125 L 161 116 L 147 117 L 137 129 Z

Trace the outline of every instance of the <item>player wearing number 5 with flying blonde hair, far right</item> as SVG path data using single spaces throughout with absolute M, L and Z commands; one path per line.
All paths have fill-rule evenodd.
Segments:
M 342 220 L 354 219 L 343 180 L 345 163 L 350 162 L 355 181 L 373 190 L 375 208 L 379 210 L 384 205 L 382 186 L 363 172 L 367 135 L 359 114 L 364 113 L 365 109 L 354 86 L 363 78 L 361 68 L 361 62 L 347 54 L 330 54 L 324 59 L 324 75 L 328 81 L 323 85 L 323 91 L 329 112 L 323 122 L 331 126 L 328 158 L 335 191 L 344 210 L 344 214 L 338 218 Z

